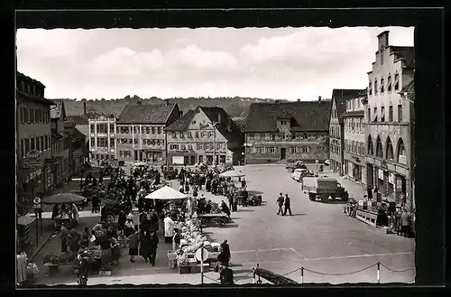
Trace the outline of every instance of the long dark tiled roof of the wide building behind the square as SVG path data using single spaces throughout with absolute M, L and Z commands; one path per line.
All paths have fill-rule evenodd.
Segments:
M 277 130 L 277 118 L 290 114 L 292 131 L 326 131 L 329 129 L 330 100 L 253 103 L 249 107 L 245 132 Z

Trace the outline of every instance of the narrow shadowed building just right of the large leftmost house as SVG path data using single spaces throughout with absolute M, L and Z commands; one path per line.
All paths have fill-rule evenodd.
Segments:
M 53 163 L 53 184 L 60 186 L 69 180 L 69 146 L 70 137 L 65 133 L 66 109 L 64 101 L 51 100 L 51 162 Z M 50 182 L 50 181 L 49 181 Z

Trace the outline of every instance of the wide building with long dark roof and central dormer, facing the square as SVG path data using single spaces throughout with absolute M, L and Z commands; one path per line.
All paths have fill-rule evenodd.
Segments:
M 253 103 L 244 125 L 246 164 L 329 158 L 330 100 Z

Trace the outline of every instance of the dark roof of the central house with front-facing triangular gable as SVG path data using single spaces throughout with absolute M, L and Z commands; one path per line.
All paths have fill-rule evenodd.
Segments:
M 226 137 L 228 141 L 240 141 L 243 139 L 243 132 L 240 130 L 238 125 L 232 120 L 230 116 L 226 113 L 221 107 L 197 107 L 195 110 L 189 110 L 183 116 L 181 116 L 174 124 L 170 125 L 166 130 L 167 131 L 184 131 L 188 128 L 189 123 L 193 116 L 196 115 L 196 110 L 200 108 L 208 117 L 211 122 L 216 122 L 218 115 L 221 115 L 221 123 L 220 125 L 216 125 L 217 131 Z M 227 121 L 230 120 L 231 131 L 227 129 Z

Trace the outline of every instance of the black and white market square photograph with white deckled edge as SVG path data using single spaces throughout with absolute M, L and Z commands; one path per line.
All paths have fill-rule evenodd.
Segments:
M 414 283 L 415 28 L 16 31 L 16 285 Z

